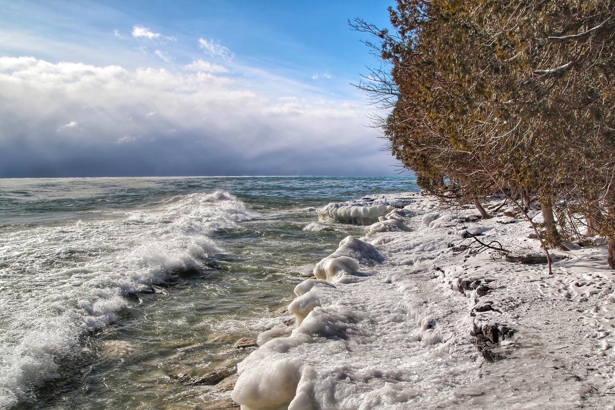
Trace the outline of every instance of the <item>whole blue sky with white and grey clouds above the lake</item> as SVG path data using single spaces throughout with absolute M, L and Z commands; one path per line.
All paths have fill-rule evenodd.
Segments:
M 0 0 L 0 177 L 397 175 L 347 25 L 391 4 Z

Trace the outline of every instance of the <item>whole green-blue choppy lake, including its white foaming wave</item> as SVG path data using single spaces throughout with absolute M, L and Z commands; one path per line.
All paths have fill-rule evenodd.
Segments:
M 312 207 L 391 178 L 0 179 L 0 408 L 181 408 L 361 227 Z M 309 226 L 308 226 L 309 225 Z M 307 228 L 306 228 L 307 227 Z M 177 407 L 180 406 L 180 407 Z

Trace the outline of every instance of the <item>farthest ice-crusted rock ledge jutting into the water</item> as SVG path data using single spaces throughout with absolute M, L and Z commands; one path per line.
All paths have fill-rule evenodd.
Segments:
M 316 213 L 320 220 L 331 218 L 338 222 L 371 225 L 395 208 L 403 208 L 410 202 L 408 196 L 370 195 L 349 202 L 331 202 Z

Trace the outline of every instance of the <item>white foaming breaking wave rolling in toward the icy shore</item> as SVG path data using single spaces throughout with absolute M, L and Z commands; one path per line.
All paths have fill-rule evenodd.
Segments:
M 130 294 L 208 269 L 216 232 L 253 218 L 228 192 L 178 195 L 137 211 L 2 232 L 0 408 L 36 400 L 35 387 L 66 360 L 90 353 L 84 337 L 128 309 Z

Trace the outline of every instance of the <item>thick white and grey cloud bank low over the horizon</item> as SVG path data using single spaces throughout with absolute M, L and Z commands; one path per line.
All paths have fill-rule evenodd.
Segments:
M 0 176 L 395 173 L 363 104 L 274 98 L 226 72 L 0 57 Z

